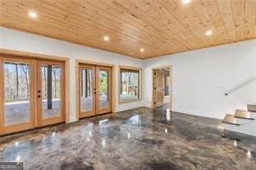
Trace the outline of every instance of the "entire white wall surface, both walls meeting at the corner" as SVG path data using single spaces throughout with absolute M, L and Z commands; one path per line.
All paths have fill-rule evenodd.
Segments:
M 106 51 L 57 41 L 9 28 L 0 28 L 0 47 L 70 59 L 70 121 L 75 120 L 75 60 L 93 60 L 116 66 L 116 111 L 151 105 L 152 67 L 172 66 L 173 110 L 198 116 L 222 118 L 235 109 L 256 104 L 256 40 L 210 47 L 151 60 L 137 60 Z M 118 104 L 118 65 L 144 67 L 144 100 Z M 235 86 L 253 79 L 225 96 Z

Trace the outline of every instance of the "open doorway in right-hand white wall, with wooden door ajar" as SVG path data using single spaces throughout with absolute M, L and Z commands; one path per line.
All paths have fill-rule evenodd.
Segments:
M 171 66 L 153 68 L 152 106 L 172 105 L 172 69 Z

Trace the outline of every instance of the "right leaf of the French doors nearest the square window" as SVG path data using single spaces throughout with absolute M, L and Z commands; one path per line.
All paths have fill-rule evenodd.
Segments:
M 111 112 L 112 71 L 110 67 L 96 66 L 96 114 Z

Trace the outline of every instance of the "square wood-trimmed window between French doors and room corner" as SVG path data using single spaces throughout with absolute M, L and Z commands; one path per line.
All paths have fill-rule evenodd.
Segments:
M 141 98 L 140 74 L 140 69 L 120 68 L 119 102 L 133 101 Z

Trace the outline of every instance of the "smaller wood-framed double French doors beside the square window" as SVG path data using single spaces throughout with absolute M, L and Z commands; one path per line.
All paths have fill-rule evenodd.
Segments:
M 111 68 L 80 64 L 79 70 L 80 118 L 111 112 Z

